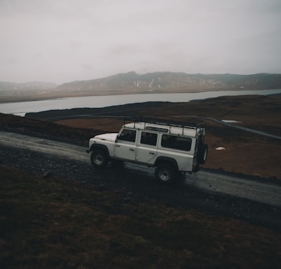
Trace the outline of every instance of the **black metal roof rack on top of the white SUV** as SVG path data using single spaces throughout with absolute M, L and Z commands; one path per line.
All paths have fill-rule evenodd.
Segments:
M 191 122 L 183 122 L 174 120 L 174 118 L 148 118 L 143 116 L 124 116 L 124 124 L 126 124 L 127 121 L 133 121 L 133 123 L 143 122 L 143 123 L 154 123 L 159 125 L 169 125 L 169 126 L 175 126 L 175 127 L 189 127 L 189 128 L 202 128 L 205 127 L 206 124 L 203 122 L 200 123 L 191 123 Z

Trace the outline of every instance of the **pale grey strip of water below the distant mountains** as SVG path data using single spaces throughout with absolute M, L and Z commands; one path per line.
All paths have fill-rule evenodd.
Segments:
M 84 107 L 98 108 L 105 106 L 116 106 L 119 104 L 132 104 L 142 102 L 190 102 L 190 100 L 207 99 L 219 96 L 272 95 L 278 93 L 281 93 L 281 89 L 67 97 L 41 101 L 3 103 L 0 104 L 0 113 L 10 113 L 19 116 L 25 116 L 25 113 L 28 112 L 40 112 L 55 109 L 74 109 Z

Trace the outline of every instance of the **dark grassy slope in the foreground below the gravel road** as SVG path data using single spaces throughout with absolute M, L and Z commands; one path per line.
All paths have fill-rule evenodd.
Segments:
M 1 268 L 280 268 L 280 233 L 0 167 Z

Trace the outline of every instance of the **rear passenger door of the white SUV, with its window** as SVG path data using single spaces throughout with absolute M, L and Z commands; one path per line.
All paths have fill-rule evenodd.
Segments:
M 157 133 L 141 132 L 140 142 L 136 146 L 136 160 L 153 164 L 157 156 Z

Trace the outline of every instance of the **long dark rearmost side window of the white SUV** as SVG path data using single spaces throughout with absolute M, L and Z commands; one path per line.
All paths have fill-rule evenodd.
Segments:
M 190 151 L 192 139 L 189 137 L 177 137 L 176 135 L 162 135 L 161 146 L 169 149 Z

